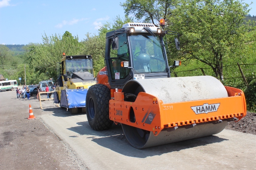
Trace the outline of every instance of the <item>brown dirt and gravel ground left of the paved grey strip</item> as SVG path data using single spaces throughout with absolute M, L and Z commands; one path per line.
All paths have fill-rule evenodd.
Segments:
M 19 100 L 14 91 L 0 93 L 1 170 L 88 169 L 76 152 L 40 121 L 45 113 L 38 108 L 36 97 Z M 36 119 L 27 119 L 29 104 Z

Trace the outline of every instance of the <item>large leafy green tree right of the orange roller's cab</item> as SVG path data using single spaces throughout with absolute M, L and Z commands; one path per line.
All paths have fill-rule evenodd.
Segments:
M 182 0 L 168 29 L 180 33 L 184 61 L 196 59 L 222 78 L 224 60 L 240 57 L 239 51 L 254 40 L 248 38 L 254 24 L 244 20 L 248 12 L 248 4 L 239 0 Z

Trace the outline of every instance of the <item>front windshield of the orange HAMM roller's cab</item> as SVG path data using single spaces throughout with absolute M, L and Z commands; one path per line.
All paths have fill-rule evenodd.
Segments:
M 168 72 L 159 36 L 148 33 L 128 36 L 135 73 Z

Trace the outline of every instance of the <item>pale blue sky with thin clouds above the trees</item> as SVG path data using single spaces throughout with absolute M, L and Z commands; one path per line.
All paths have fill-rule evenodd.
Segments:
M 0 0 L 0 44 L 41 43 L 42 34 L 65 31 L 81 41 L 103 23 L 124 17 L 120 2 L 125 0 Z M 256 16 L 256 2 L 250 8 Z

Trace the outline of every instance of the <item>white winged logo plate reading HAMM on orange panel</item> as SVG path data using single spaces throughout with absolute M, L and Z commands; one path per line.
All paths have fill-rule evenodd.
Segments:
M 196 113 L 196 114 L 201 114 L 201 113 L 209 113 L 209 112 L 214 112 L 217 111 L 220 106 L 220 103 L 216 104 L 208 104 L 205 103 L 204 105 L 201 106 L 192 106 L 191 109 Z

